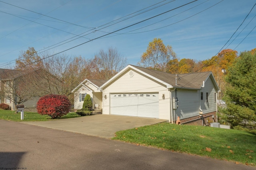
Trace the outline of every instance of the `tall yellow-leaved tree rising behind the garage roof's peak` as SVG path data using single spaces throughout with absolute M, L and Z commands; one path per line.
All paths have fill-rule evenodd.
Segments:
M 169 66 L 167 66 L 168 62 Z M 138 66 L 168 72 L 171 69 L 176 69 L 177 62 L 178 59 L 172 46 L 166 46 L 162 39 L 154 38 L 153 41 L 148 44 L 146 52 L 140 57 Z

